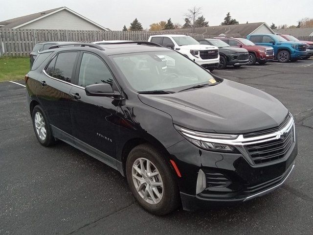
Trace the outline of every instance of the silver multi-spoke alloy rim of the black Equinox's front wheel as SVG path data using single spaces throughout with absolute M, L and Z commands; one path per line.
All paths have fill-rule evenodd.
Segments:
M 132 168 L 134 187 L 147 203 L 155 205 L 162 200 L 164 187 L 162 177 L 150 160 L 138 158 Z

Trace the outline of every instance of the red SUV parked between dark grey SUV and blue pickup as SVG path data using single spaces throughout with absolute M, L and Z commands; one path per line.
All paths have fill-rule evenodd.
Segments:
M 254 65 L 256 62 L 263 65 L 274 59 L 273 47 L 257 46 L 245 38 L 218 37 L 231 47 L 242 47 L 249 52 L 248 65 Z

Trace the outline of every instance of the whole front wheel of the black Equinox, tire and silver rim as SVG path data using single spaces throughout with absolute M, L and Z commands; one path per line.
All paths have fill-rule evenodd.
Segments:
M 179 206 L 179 189 L 165 158 L 151 145 L 140 144 L 128 155 L 126 177 L 137 202 L 157 215 Z

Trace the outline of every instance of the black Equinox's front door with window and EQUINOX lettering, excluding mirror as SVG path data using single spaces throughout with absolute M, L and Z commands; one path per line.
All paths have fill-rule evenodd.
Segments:
M 119 100 L 113 97 L 88 96 L 85 87 L 108 83 L 118 91 L 114 77 L 104 60 L 91 52 L 81 52 L 76 70 L 76 85 L 70 91 L 75 97 L 70 104 L 73 136 L 89 146 L 115 156 L 115 115 Z M 104 157 L 110 164 L 111 158 Z M 111 162 L 113 163 L 113 162 Z

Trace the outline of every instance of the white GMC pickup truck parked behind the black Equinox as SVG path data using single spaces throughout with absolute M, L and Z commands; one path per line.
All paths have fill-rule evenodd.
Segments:
M 219 49 L 210 45 L 200 45 L 199 42 L 190 36 L 180 34 L 154 35 L 150 36 L 148 41 L 177 50 L 210 71 L 219 67 Z

